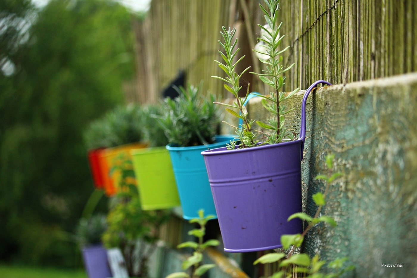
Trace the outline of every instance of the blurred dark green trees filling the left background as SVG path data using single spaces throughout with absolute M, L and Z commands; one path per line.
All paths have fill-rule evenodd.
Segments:
M 82 134 L 124 101 L 133 16 L 108 0 L 0 1 L 0 261 L 79 264 L 73 228 L 93 192 Z

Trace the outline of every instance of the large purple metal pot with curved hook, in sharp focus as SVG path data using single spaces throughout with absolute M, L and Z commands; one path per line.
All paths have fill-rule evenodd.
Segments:
M 280 248 L 281 235 L 302 233 L 301 160 L 305 139 L 304 94 L 300 138 L 274 145 L 201 152 L 226 252 Z

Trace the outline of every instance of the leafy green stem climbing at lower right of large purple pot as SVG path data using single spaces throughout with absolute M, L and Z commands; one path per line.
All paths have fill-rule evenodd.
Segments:
M 318 175 L 316 179 L 322 180 L 326 183 L 326 187 L 324 193 L 317 192 L 312 196 L 314 203 L 317 205 L 317 211 L 314 217 L 307 215 L 304 212 L 297 212 L 291 215 L 288 218 L 288 221 L 294 218 L 300 218 L 301 220 L 305 220 L 308 222 L 306 229 L 301 234 L 295 235 L 282 235 L 281 236 L 281 243 L 284 249 L 289 249 L 291 246 L 299 248 L 304 241 L 306 234 L 320 222 L 324 222 L 332 227 L 337 225 L 336 221 L 327 215 L 319 216 L 322 207 L 326 204 L 326 195 L 329 192 L 330 185 L 338 178 L 342 176 L 340 172 L 333 172 L 333 159 L 334 155 L 329 154 L 326 157 L 326 165 L 328 174 L 327 175 Z M 327 267 L 333 269 L 334 273 L 323 274 L 320 273 L 320 269 L 326 263 L 324 260 L 320 260 L 319 255 L 315 255 L 312 259 L 307 254 L 294 254 L 294 248 L 292 248 L 289 252 L 287 258 L 285 258 L 285 253 L 270 253 L 261 256 L 257 259 L 254 264 L 257 263 L 275 263 L 279 262 L 279 271 L 274 273 L 272 276 L 273 278 L 282 278 L 282 277 L 291 277 L 287 273 L 303 273 L 304 277 L 310 278 L 333 278 L 333 277 L 340 277 L 344 272 L 350 271 L 354 269 L 354 265 L 349 265 L 344 267 L 344 263 L 348 260 L 348 258 L 336 258 L 332 262 L 329 262 Z

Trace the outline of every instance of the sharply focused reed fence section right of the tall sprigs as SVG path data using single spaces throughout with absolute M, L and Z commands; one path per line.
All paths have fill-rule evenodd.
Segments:
M 282 2 L 291 87 L 349 83 L 417 71 L 415 0 Z

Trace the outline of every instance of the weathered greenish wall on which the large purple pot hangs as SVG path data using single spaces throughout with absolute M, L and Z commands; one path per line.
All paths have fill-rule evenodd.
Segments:
M 304 92 L 287 104 L 295 110 L 286 123 L 297 133 Z M 325 260 L 349 257 L 356 265 L 352 277 L 417 277 L 416 108 L 417 73 L 327 86 L 310 94 L 302 161 L 306 212 L 314 215 L 311 195 L 324 190 L 314 177 L 326 173 L 326 154 L 335 154 L 335 168 L 344 177 L 331 187 L 322 210 L 338 226 L 316 226 L 304 251 Z M 269 116 L 258 98 L 251 99 L 248 111 L 255 119 Z

